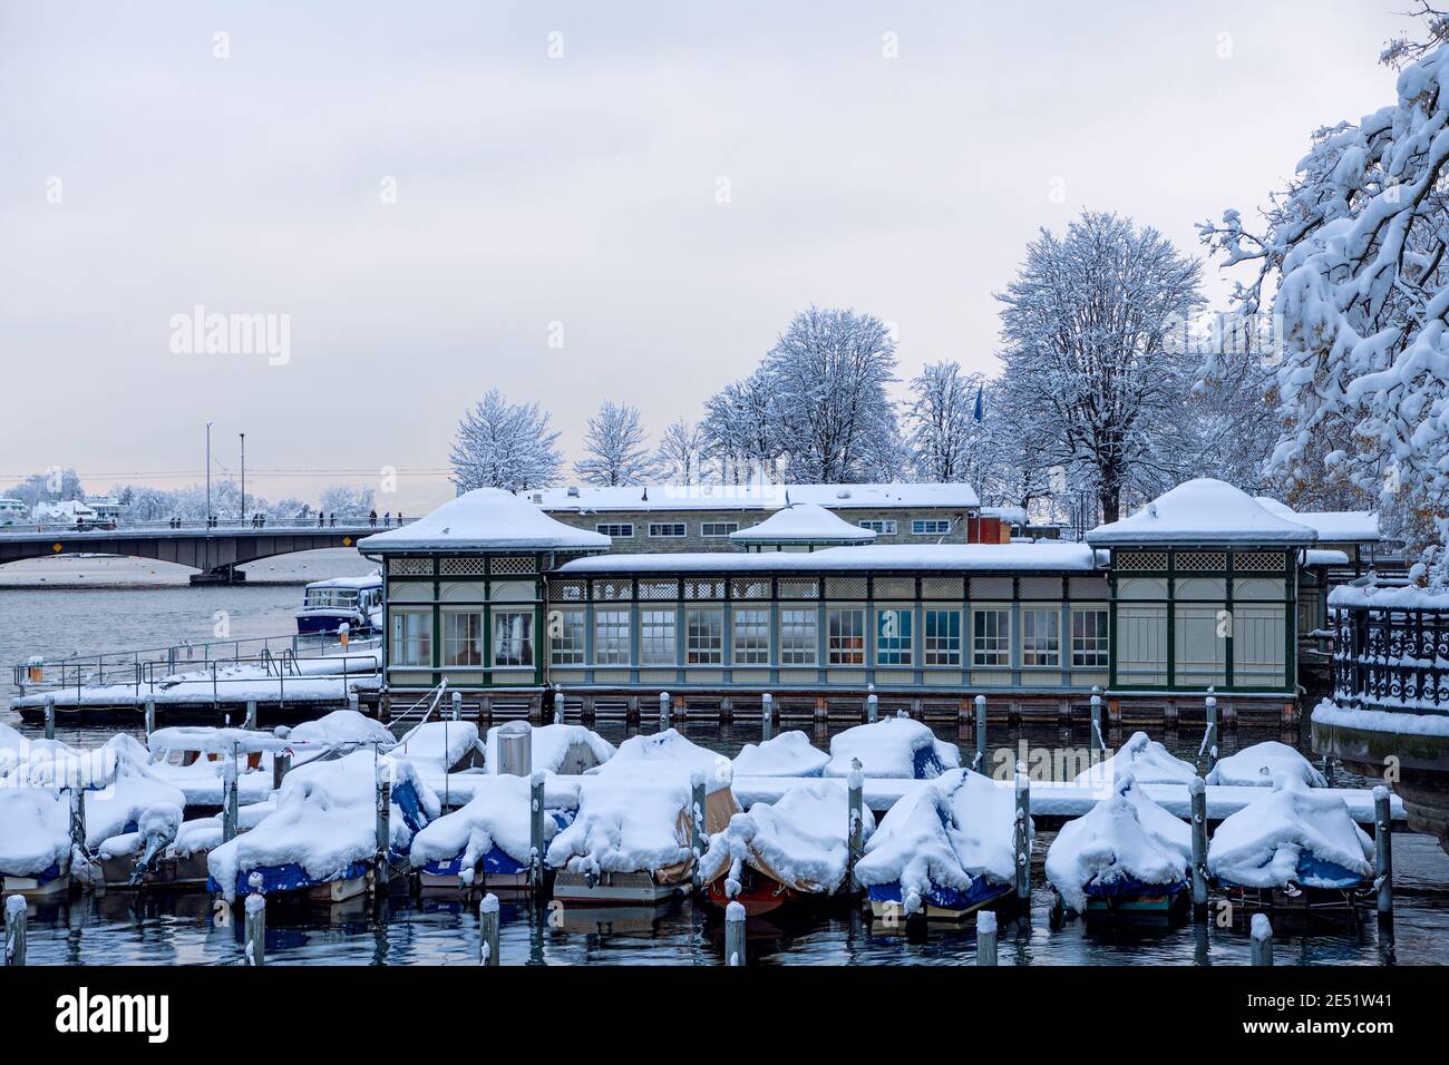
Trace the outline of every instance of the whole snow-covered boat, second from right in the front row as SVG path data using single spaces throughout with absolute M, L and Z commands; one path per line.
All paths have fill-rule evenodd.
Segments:
M 1046 852 L 1056 888 L 1052 920 L 1172 920 L 1191 900 L 1191 827 L 1155 803 L 1130 771 L 1113 793 L 1068 822 Z

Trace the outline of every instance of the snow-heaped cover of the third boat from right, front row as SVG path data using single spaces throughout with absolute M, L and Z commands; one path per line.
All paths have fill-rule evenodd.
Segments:
M 862 887 L 900 884 L 906 913 L 932 887 L 965 894 L 977 878 L 1016 877 L 1016 790 L 969 769 L 951 769 L 897 801 L 855 866 Z

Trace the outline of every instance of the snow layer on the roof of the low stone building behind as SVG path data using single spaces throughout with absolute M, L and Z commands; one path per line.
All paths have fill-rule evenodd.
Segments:
M 981 506 L 969 484 L 651 484 L 574 485 L 520 493 L 543 510 L 777 510 L 791 503 L 849 507 Z

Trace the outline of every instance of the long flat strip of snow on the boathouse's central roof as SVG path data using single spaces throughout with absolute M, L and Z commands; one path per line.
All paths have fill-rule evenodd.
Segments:
M 835 572 L 840 569 L 962 569 L 1082 572 L 1095 552 L 1082 543 L 920 543 L 826 548 L 813 552 L 664 552 L 597 555 L 565 562 L 559 577 L 632 572 Z

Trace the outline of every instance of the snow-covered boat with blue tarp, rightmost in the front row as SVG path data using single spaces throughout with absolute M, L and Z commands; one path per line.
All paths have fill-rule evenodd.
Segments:
M 1213 833 L 1207 869 L 1245 913 L 1352 913 L 1374 890 L 1374 840 L 1340 795 L 1290 771 Z

